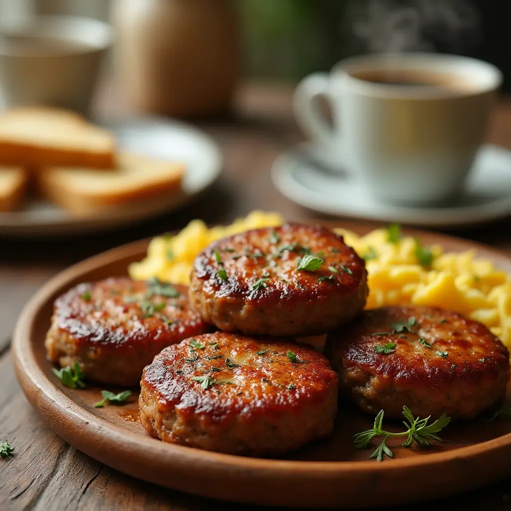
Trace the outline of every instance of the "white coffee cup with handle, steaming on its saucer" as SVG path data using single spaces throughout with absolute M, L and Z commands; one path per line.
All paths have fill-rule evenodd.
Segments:
M 365 55 L 301 81 L 294 114 L 338 170 L 360 177 L 373 197 L 434 203 L 462 191 L 501 82 L 495 66 L 468 57 Z

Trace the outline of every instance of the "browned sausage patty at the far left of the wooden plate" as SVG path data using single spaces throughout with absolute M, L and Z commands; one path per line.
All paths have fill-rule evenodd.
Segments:
M 164 347 L 205 331 L 187 287 L 109 278 L 55 301 L 45 346 L 50 360 L 62 367 L 78 362 L 90 380 L 137 385 Z

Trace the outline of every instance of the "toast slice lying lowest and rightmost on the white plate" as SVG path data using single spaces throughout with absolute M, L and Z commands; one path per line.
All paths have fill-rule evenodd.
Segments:
M 37 174 L 43 195 L 76 215 L 91 215 L 139 199 L 178 193 L 184 165 L 120 154 L 111 170 L 50 167 Z

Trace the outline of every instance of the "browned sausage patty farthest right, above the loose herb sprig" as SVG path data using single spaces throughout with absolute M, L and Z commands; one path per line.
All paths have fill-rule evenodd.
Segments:
M 471 419 L 504 399 L 509 379 L 509 353 L 495 335 L 433 307 L 365 311 L 330 335 L 327 353 L 341 392 L 389 417 L 402 418 L 406 405 L 415 415 Z

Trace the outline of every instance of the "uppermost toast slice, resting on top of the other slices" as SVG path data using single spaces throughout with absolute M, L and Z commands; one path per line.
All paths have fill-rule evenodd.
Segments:
M 22 107 L 0 114 L 0 165 L 111 169 L 115 146 L 109 131 L 68 110 Z

